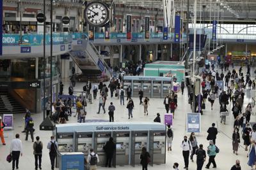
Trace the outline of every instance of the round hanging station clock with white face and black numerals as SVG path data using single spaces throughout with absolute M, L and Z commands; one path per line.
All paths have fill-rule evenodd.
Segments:
M 84 10 L 84 19 L 89 25 L 101 27 L 109 21 L 109 8 L 100 1 L 89 3 Z

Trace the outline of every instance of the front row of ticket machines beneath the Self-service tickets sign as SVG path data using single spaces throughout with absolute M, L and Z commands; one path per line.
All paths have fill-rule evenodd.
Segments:
M 87 158 L 90 154 L 90 148 L 93 148 L 94 152 L 99 155 L 100 162 L 98 166 L 105 166 L 106 154 L 103 147 L 110 137 L 116 143 L 116 151 L 112 161 L 113 167 L 140 164 L 140 154 L 143 146 L 150 153 L 151 165 L 165 163 L 166 130 L 164 125 L 161 131 L 159 129 L 157 131 L 146 129 L 145 131 L 75 131 L 67 132 L 67 135 L 65 132 L 58 132 L 58 129 L 60 127 L 56 128 L 59 152 L 83 152 Z

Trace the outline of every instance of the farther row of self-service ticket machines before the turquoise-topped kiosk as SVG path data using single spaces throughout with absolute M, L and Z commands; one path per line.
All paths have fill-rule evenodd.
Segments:
M 125 76 L 124 89 L 132 89 L 132 97 L 138 97 L 143 90 L 145 97 L 165 97 L 172 90 L 172 78 L 157 76 Z

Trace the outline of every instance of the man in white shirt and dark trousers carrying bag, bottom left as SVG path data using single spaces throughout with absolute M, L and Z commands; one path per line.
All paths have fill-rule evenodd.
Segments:
M 22 156 L 22 142 L 19 138 L 20 135 L 16 134 L 10 146 L 10 153 L 12 153 L 12 170 L 15 168 L 15 162 L 16 169 L 19 169 L 19 157 Z

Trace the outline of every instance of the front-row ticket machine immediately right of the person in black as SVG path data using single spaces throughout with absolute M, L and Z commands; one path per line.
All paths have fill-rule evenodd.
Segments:
M 130 132 L 116 132 L 116 165 L 129 164 Z

